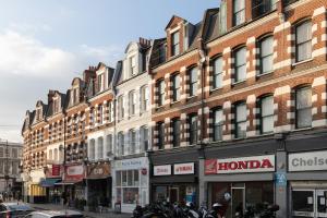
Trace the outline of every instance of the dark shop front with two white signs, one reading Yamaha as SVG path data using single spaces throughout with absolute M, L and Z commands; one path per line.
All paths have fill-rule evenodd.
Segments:
M 196 204 L 195 166 L 195 162 L 154 166 L 153 199 Z

